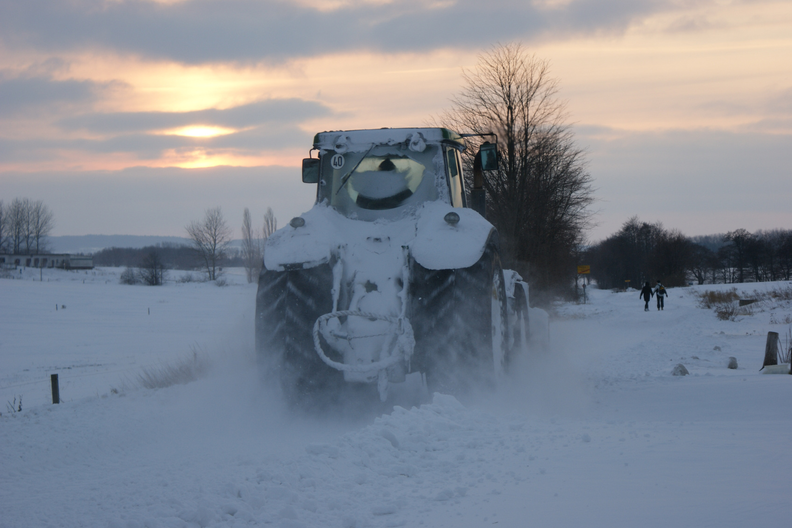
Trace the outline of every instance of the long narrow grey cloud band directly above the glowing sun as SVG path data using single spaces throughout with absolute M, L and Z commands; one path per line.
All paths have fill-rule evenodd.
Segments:
M 60 120 L 67 129 L 81 129 L 101 134 L 160 131 L 192 124 L 245 128 L 262 123 L 299 123 L 314 117 L 328 116 L 330 109 L 322 103 L 303 99 L 268 99 L 234 108 L 207 108 L 193 112 L 105 112 L 89 113 Z

